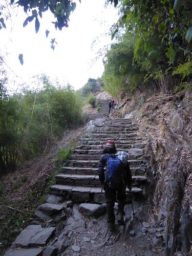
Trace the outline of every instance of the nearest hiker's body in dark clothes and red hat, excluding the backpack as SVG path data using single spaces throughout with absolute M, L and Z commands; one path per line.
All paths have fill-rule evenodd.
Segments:
M 127 161 L 124 165 L 122 165 L 122 173 L 124 174 L 124 180 L 122 182 L 120 181 L 119 187 L 113 188 L 105 180 L 104 172 L 105 172 L 105 167 L 109 159 L 109 156 L 114 155 L 116 153 L 117 153 L 117 150 L 115 147 L 115 141 L 107 141 L 106 146 L 103 149 L 103 155 L 100 157 L 99 166 L 98 166 L 99 180 L 101 184 L 103 184 L 103 188 L 105 191 L 107 222 L 108 222 L 109 228 L 112 231 L 115 229 L 114 205 L 116 201 L 116 195 L 117 195 L 117 201 L 118 201 L 117 222 L 119 225 L 125 225 L 123 216 L 125 214 L 124 205 L 125 205 L 125 199 L 126 199 L 126 185 L 130 191 L 132 189 L 132 175 L 131 175 L 129 163 Z

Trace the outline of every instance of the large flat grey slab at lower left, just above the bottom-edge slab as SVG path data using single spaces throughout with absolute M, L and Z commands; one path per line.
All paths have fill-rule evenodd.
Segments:
M 20 232 L 15 240 L 15 246 L 45 246 L 51 239 L 54 231 L 54 227 L 42 228 L 41 225 L 30 225 Z

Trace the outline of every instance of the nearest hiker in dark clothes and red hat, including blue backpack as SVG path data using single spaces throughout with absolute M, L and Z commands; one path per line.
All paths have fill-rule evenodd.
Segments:
M 103 155 L 99 160 L 99 180 L 103 184 L 106 199 L 106 215 L 110 230 L 115 230 L 114 205 L 118 201 L 118 224 L 125 225 L 123 216 L 126 199 L 126 185 L 131 191 L 132 176 L 128 154 L 124 151 L 117 153 L 115 141 L 107 141 Z M 105 168 L 106 167 L 106 168 Z

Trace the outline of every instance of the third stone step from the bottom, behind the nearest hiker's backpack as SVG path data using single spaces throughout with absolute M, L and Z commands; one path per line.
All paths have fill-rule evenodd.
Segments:
M 61 168 L 64 174 L 78 174 L 78 175 L 97 175 L 98 174 L 98 167 L 97 168 L 86 168 L 86 167 L 69 167 L 65 166 Z M 145 174 L 145 167 L 138 166 L 138 167 L 131 167 L 131 174 L 135 176 L 143 176 Z

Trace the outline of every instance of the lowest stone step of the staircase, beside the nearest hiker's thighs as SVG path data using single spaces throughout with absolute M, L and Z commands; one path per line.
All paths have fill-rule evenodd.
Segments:
M 142 189 L 133 187 L 131 193 L 140 197 Z M 126 189 L 126 201 L 130 200 L 129 190 Z M 55 196 L 65 196 L 74 202 L 95 202 L 104 203 L 104 190 L 102 187 L 83 187 L 83 186 L 70 186 L 70 185 L 52 185 L 51 194 Z

